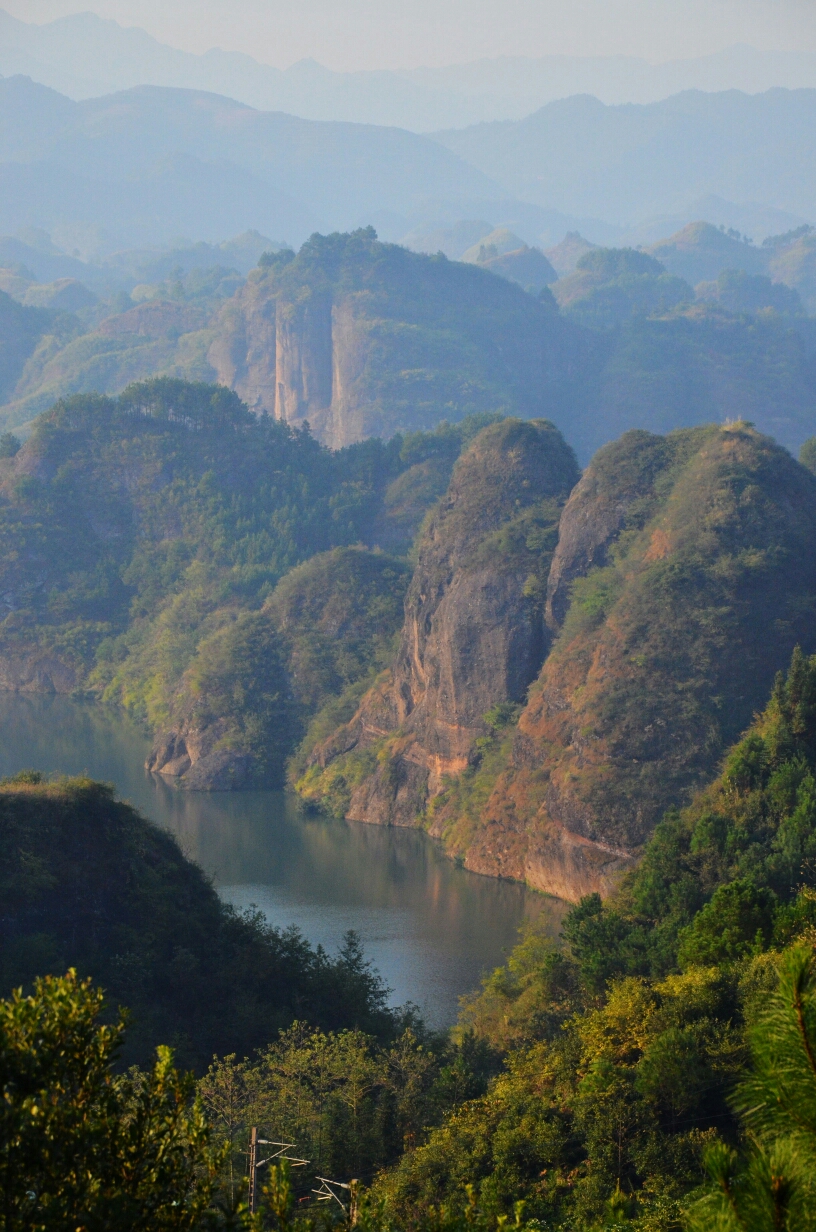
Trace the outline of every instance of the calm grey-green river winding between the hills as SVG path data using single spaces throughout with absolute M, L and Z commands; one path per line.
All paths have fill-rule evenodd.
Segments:
M 393 989 L 434 1025 L 497 966 L 525 919 L 553 936 L 565 904 L 479 877 L 446 860 L 415 830 L 306 817 L 282 792 L 185 792 L 144 770 L 148 740 L 116 711 L 65 697 L 0 692 L 0 775 L 33 768 L 86 772 L 171 830 L 237 907 L 296 924 L 334 952 L 356 929 Z

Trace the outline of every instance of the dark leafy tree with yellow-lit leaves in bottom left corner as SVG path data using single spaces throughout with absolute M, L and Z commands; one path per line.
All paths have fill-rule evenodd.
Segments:
M 184 1232 L 211 1205 L 221 1152 L 192 1079 L 158 1050 L 117 1076 L 123 1023 L 71 971 L 0 1002 L 2 1232 Z

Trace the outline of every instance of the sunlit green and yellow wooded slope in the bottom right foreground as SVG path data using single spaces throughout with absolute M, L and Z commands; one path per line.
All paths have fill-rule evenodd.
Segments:
M 695 1227 L 810 1226 L 815 772 L 816 657 L 796 652 L 619 894 L 574 908 L 567 951 L 531 931 L 466 1005 L 505 1069 L 377 1181 L 398 1223 L 472 1185 L 493 1216 L 524 1200 L 547 1226 L 671 1230 L 705 1164 Z

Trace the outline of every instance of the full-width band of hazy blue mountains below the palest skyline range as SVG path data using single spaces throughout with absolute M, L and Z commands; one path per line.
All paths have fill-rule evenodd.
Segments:
M 577 96 L 430 137 L 198 90 L 75 102 L 15 76 L 0 80 L 0 234 L 39 228 L 83 259 L 247 230 L 300 245 L 372 224 L 398 241 L 462 219 L 541 246 L 569 230 L 651 243 L 699 218 L 761 240 L 812 219 L 815 147 L 816 90 Z

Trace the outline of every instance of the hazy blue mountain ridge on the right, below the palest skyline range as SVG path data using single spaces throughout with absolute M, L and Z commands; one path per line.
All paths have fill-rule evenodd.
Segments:
M 435 137 L 509 196 L 624 225 L 706 195 L 809 221 L 816 201 L 816 90 L 694 90 L 616 107 L 584 95 Z

